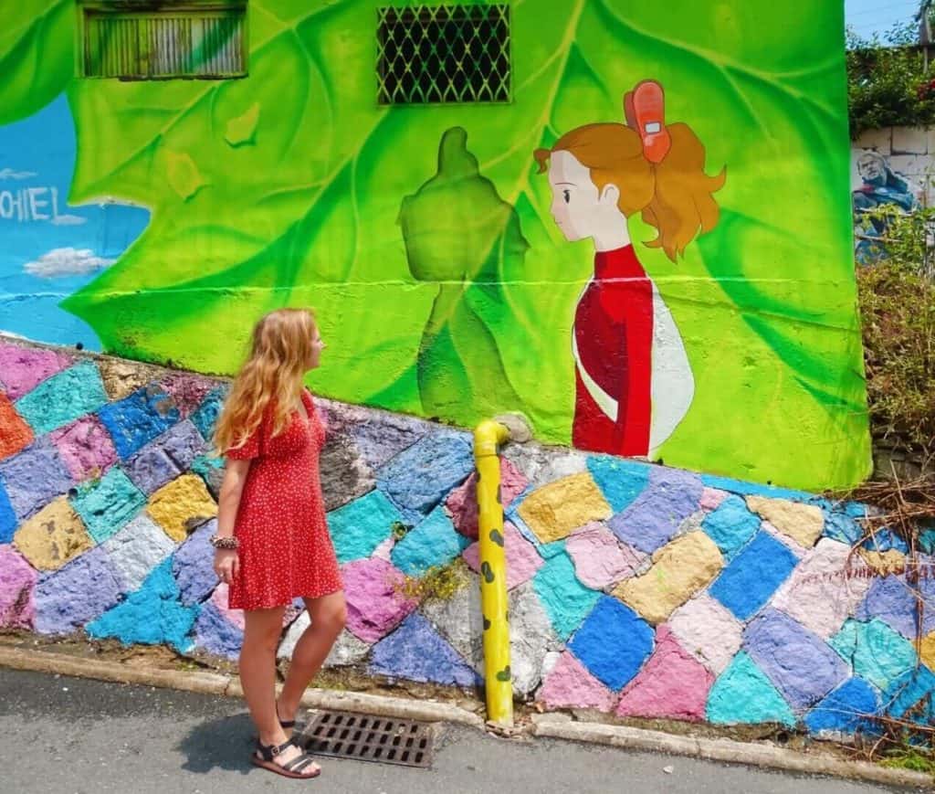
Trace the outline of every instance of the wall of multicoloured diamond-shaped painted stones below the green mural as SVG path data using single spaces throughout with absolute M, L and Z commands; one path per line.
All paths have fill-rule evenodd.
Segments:
M 207 541 L 223 383 L 8 339 L 0 380 L 0 627 L 236 657 Z M 349 603 L 328 664 L 479 684 L 469 435 L 319 410 Z M 536 444 L 502 475 L 513 683 L 545 708 L 848 733 L 935 690 L 933 533 L 907 571 L 885 532 L 851 558 L 856 504 Z

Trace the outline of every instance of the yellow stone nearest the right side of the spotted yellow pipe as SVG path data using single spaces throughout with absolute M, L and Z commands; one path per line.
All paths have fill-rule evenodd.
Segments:
M 526 526 L 543 543 L 560 541 L 572 531 L 613 514 L 607 499 L 586 471 L 544 485 L 519 509 Z

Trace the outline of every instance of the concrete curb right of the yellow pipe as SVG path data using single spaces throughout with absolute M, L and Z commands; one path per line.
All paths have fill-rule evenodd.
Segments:
M 786 772 L 825 774 L 886 786 L 933 787 L 932 776 L 925 772 L 888 769 L 869 761 L 844 761 L 827 755 L 806 755 L 798 750 L 786 750 L 770 744 L 675 736 L 657 730 L 573 722 L 568 715 L 533 715 L 532 733 L 550 739 L 607 744 L 627 750 L 668 753 Z

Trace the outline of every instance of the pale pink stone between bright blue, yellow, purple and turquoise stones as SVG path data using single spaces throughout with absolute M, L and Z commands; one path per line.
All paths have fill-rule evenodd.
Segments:
M 669 618 L 679 644 L 715 675 L 740 650 L 743 625 L 706 593 L 679 607 Z

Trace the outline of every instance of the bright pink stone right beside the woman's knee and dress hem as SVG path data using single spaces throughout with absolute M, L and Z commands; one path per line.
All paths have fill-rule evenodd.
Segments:
M 341 569 L 348 603 L 348 630 L 359 640 L 377 642 L 418 605 L 403 594 L 406 577 L 379 557 L 354 560 Z

